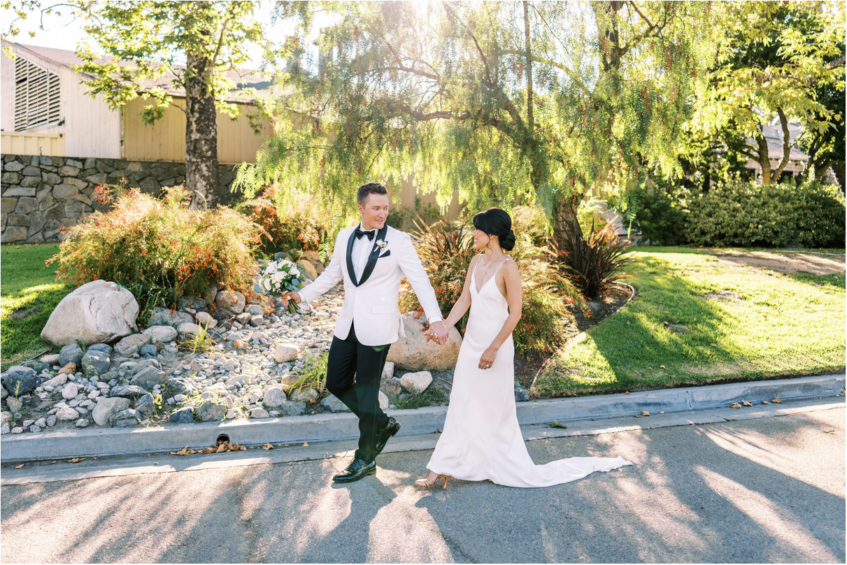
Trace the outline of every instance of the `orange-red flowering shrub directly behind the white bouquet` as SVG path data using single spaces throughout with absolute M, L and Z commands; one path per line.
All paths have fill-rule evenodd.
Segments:
M 278 212 L 274 186 L 265 187 L 260 196 L 241 203 L 236 209 L 262 226 L 260 248 L 265 255 L 289 249 L 318 251 L 329 231 L 328 226 L 299 210 Z

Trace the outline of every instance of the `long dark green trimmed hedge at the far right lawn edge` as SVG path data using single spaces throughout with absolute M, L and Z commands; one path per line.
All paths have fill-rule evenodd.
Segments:
M 844 196 L 819 182 L 732 180 L 680 200 L 682 240 L 697 246 L 844 246 Z

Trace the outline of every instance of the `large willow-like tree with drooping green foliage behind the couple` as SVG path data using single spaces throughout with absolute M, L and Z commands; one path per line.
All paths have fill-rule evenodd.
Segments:
M 673 169 L 700 85 L 705 3 L 280 3 L 296 19 L 278 135 L 242 166 L 344 208 L 413 175 L 442 207 L 539 202 L 556 241 L 586 191 Z M 326 25 L 316 40 L 315 14 Z M 329 15 L 327 15 L 329 14 Z

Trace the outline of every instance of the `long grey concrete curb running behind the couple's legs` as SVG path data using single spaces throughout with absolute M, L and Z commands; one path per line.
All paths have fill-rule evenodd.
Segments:
M 521 424 L 553 420 L 615 418 L 682 412 L 700 408 L 726 407 L 745 399 L 750 402 L 799 400 L 836 396 L 844 390 L 844 373 L 797 379 L 774 379 L 727 385 L 697 386 L 632 394 L 580 396 L 518 403 Z M 446 407 L 396 410 L 400 435 L 435 432 L 444 425 Z M 69 457 L 107 457 L 176 451 L 185 446 L 199 449 L 213 445 L 219 435 L 243 446 L 292 444 L 304 441 L 350 440 L 358 437 L 357 418 L 352 413 L 291 416 L 263 420 L 230 420 L 215 424 L 184 424 L 161 428 L 98 428 L 3 436 L 0 461 L 38 461 Z

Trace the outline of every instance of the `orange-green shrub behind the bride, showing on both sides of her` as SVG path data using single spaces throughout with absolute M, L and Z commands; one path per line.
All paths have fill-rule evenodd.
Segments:
M 418 231 L 413 234 L 418 256 L 445 315 L 462 295 L 468 267 L 476 254 L 472 231 L 467 222 L 453 226 L 442 220 L 433 226 L 419 224 Z M 579 291 L 562 276 L 555 264 L 551 264 L 555 255 L 544 247 L 535 246 L 529 237 L 518 236 L 510 256 L 518 263 L 523 283 L 522 315 L 512 333 L 515 349 L 518 352 L 554 351 L 565 339 L 562 315 L 566 313 L 567 303 L 584 307 Z M 409 285 L 403 287 L 401 307 L 404 311 L 423 312 Z M 464 332 L 467 322 L 468 313 L 456 327 Z

